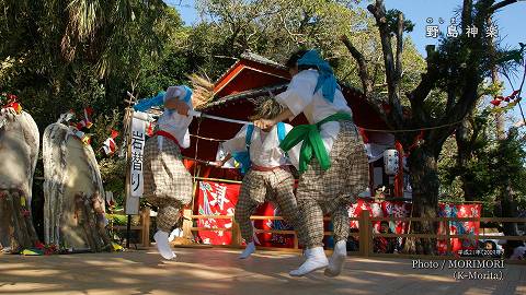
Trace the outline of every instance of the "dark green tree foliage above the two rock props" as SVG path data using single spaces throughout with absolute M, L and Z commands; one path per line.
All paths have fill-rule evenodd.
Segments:
M 187 28 L 161 0 L 0 4 L 0 91 L 19 95 L 41 132 L 60 114 L 91 106 L 96 150 L 111 129 L 122 130 L 126 91 L 151 95 L 181 83 L 190 70 L 174 42 L 185 42 Z M 105 188 L 122 203 L 124 162 L 101 150 L 96 156 Z

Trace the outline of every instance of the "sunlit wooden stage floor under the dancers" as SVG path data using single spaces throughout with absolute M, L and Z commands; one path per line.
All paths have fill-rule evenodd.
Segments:
M 410 259 L 348 257 L 343 274 L 295 279 L 296 253 L 176 248 L 48 257 L 0 255 L 0 294 L 526 294 L 526 266 L 505 264 L 502 281 L 454 279 L 454 270 L 412 269 Z M 487 271 L 487 270 L 479 270 Z M 490 270 L 499 271 L 499 270 Z

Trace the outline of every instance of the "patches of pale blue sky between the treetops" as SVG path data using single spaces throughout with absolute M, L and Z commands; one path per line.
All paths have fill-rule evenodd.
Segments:
M 165 0 L 168 4 L 174 7 L 181 13 L 185 24 L 192 25 L 198 22 L 198 15 L 195 10 L 194 0 Z M 361 5 L 366 7 L 370 1 L 363 1 Z M 441 31 L 446 31 L 450 19 L 457 16 L 456 11 L 460 9 L 461 0 L 385 0 L 387 9 L 398 9 L 402 11 L 405 19 L 411 20 L 415 26 L 413 32 L 409 33 L 416 48 L 425 57 L 425 46 L 438 44 L 438 38 L 426 37 L 427 21 L 433 19 L 432 25 L 438 25 Z M 439 19 L 444 24 L 438 24 Z M 526 0 L 508 5 L 494 14 L 493 22 L 498 27 L 498 38 L 501 39 L 501 46 L 504 48 L 517 48 L 518 43 L 526 44 Z M 518 79 L 512 81 L 515 88 L 518 87 Z M 510 83 L 505 82 L 505 96 L 512 92 Z M 526 110 L 525 101 L 523 109 Z M 519 118 L 518 107 L 511 114 L 516 119 Z

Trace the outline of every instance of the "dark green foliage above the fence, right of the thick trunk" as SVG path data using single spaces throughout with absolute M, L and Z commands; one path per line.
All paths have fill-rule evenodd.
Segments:
M 484 114 L 477 116 L 474 123 L 488 125 Z M 469 146 L 472 156 L 462 166 L 456 162 L 456 144 L 453 138 L 449 139 L 438 164 L 442 194 L 462 201 L 461 181 L 469 181 L 472 197 L 483 203 L 484 215 L 489 216 L 493 214 L 493 208 L 508 184 L 515 200 L 522 206 L 526 204 L 526 141 L 516 129 L 511 129 L 505 140 L 498 140 L 490 132 L 494 130 L 485 129 L 477 137 Z

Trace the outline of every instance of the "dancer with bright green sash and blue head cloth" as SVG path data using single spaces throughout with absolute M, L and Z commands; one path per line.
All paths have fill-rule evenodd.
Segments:
M 307 118 L 309 125 L 296 126 L 281 143 L 284 151 L 300 146 L 296 198 L 307 259 L 290 275 L 325 269 L 325 275 L 336 276 L 346 258 L 348 206 L 369 184 L 367 155 L 333 70 L 319 52 L 298 51 L 287 67 L 293 79 L 287 90 L 276 95 L 285 109 L 254 125 L 268 128 L 301 113 Z M 334 227 L 330 260 L 323 251 L 323 215 L 332 217 Z

